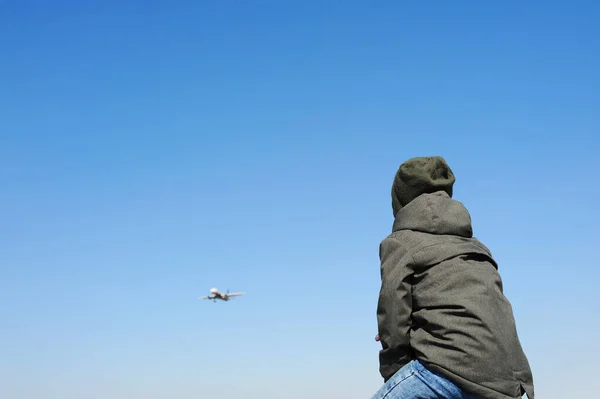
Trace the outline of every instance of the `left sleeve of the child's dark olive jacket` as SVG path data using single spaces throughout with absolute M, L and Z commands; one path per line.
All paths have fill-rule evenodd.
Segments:
M 412 360 L 410 327 L 412 311 L 412 257 L 398 239 L 388 237 L 379 246 L 381 290 L 377 324 L 382 350 L 379 372 L 387 382 Z

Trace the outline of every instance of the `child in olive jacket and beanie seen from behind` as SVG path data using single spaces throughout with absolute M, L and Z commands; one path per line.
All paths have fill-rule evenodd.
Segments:
M 379 247 L 379 370 L 372 399 L 534 399 L 498 265 L 452 199 L 441 157 L 413 158 L 392 185 L 394 224 Z

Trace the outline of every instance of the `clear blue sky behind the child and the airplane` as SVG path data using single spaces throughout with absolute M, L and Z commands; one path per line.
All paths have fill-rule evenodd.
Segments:
M 421 155 L 499 262 L 539 397 L 591 397 L 599 18 L 1 1 L 0 397 L 370 397 L 390 186 Z

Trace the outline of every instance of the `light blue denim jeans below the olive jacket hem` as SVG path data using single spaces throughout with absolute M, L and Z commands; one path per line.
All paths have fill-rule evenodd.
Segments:
M 413 360 L 396 372 L 371 399 L 475 399 Z

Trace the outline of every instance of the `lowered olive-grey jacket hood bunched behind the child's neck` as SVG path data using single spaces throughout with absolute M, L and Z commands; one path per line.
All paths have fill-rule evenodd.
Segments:
M 473 237 L 471 216 L 447 192 L 421 194 L 396 214 L 393 231 L 413 230 L 429 234 Z

